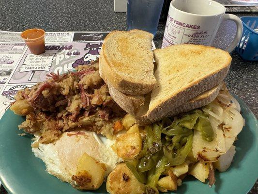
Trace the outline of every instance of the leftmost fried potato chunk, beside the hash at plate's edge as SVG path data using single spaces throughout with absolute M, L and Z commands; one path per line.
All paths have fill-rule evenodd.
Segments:
M 17 100 L 11 107 L 11 111 L 15 114 L 26 116 L 33 111 L 32 106 L 28 103 L 27 99 Z

